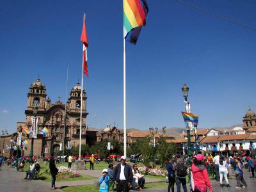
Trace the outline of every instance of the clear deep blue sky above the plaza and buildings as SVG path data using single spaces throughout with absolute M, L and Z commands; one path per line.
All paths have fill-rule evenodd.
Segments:
M 256 1 L 186 2 L 256 28 Z M 256 31 L 175 0 L 148 6 L 137 45 L 126 44 L 127 128 L 184 127 L 183 83 L 198 127 L 242 124 L 249 106 L 256 111 Z M 52 102 L 65 101 L 67 63 L 68 94 L 81 81 L 83 12 L 88 125 L 123 127 L 122 1 L 1 1 L 0 131 L 26 120 L 38 74 Z

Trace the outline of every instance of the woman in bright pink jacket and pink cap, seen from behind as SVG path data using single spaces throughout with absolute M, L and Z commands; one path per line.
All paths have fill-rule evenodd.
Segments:
M 211 182 L 209 180 L 204 161 L 205 157 L 202 154 L 198 154 L 192 164 L 192 173 L 196 192 L 206 192 L 207 187 L 212 192 Z

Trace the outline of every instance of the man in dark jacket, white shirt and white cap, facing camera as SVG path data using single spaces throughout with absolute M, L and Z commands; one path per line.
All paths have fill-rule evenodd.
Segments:
M 113 180 L 117 185 L 117 192 L 127 192 L 133 180 L 132 168 L 125 163 L 126 157 L 121 157 L 121 163 L 118 163 L 114 170 Z

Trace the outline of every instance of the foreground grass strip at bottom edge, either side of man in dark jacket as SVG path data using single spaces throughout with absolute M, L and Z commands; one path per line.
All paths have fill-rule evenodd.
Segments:
M 155 182 L 155 183 L 149 183 L 145 184 L 147 188 L 168 188 L 168 184 L 164 182 Z M 99 188 L 96 188 L 94 185 L 85 185 L 85 186 L 76 186 L 76 187 L 67 187 L 62 188 L 63 191 L 76 191 L 76 192 L 82 192 L 82 191 L 90 191 L 90 192 L 96 192 L 99 191 Z

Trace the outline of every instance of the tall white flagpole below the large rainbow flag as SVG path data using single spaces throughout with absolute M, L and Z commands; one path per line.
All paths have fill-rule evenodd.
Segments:
M 124 38 L 124 156 L 126 157 L 126 71 L 125 71 L 125 38 Z

